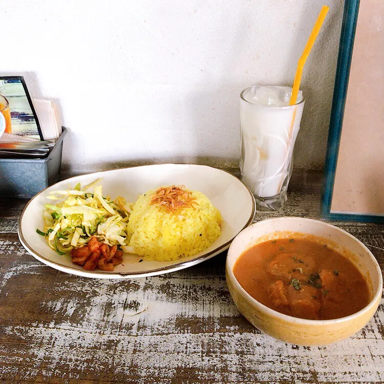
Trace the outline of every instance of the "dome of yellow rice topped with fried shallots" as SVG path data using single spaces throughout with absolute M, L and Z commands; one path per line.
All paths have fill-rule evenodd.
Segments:
M 175 201 L 164 202 L 164 194 Z M 211 245 L 220 236 L 221 220 L 219 210 L 201 192 L 184 186 L 162 187 L 139 196 L 127 225 L 127 239 L 146 260 L 178 260 Z

